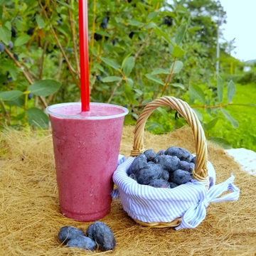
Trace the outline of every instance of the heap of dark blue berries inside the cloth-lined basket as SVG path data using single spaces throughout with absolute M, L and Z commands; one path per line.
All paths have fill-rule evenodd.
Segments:
M 128 176 L 142 185 L 175 188 L 191 181 L 195 161 L 196 156 L 176 146 L 157 153 L 148 149 L 134 159 Z

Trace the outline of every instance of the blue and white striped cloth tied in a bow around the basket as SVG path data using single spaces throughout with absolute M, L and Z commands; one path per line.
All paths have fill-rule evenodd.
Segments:
M 209 203 L 236 201 L 239 198 L 240 190 L 233 184 L 234 176 L 215 185 L 215 171 L 210 162 L 208 162 L 210 189 L 206 191 L 206 187 L 195 180 L 171 189 L 141 185 L 127 175 L 134 158 L 129 157 L 124 161 L 124 158 L 119 156 L 119 159 L 119 166 L 113 174 L 117 189 L 112 191 L 112 196 L 114 198 L 120 196 L 124 210 L 133 219 L 144 223 L 168 223 L 183 216 L 177 230 L 196 228 L 206 218 L 206 208 Z M 229 190 L 232 192 L 221 198 L 218 197 Z

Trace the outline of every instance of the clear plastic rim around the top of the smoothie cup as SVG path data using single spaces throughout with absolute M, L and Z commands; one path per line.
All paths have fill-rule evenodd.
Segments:
M 100 102 L 90 102 L 90 105 L 102 105 L 102 106 L 108 106 L 108 107 L 117 107 L 124 112 L 119 113 L 119 114 L 112 114 L 112 115 L 107 115 L 107 116 L 94 116 L 94 117 L 82 117 L 78 115 L 72 115 L 72 114 L 58 114 L 53 112 L 54 109 L 58 107 L 63 107 L 63 106 L 68 106 L 68 105 L 79 105 L 81 106 L 81 102 L 65 102 L 65 103 L 58 103 L 55 105 L 50 105 L 46 107 L 46 113 L 50 114 L 53 117 L 60 117 L 60 118 L 67 118 L 67 119 L 90 119 L 90 120 L 99 120 L 99 119 L 112 119 L 112 118 L 117 118 L 117 117 L 123 117 L 124 115 L 129 113 L 129 110 L 126 107 L 122 107 L 119 105 L 114 105 L 110 103 L 100 103 Z

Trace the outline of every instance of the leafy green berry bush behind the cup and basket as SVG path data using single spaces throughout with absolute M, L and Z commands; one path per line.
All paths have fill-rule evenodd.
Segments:
M 235 84 L 223 95 L 222 78 L 214 79 L 216 17 L 225 22 L 225 12 L 198 2 L 88 1 L 90 101 L 127 106 L 134 124 L 147 102 L 171 95 L 191 104 L 208 139 L 219 117 L 237 127 L 223 110 Z M 0 3 L 1 125 L 45 128 L 47 105 L 80 100 L 78 1 Z M 149 124 L 166 132 L 186 120 L 164 108 Z

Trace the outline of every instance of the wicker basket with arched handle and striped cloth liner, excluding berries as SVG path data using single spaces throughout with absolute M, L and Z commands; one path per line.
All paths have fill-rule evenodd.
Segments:
M 141 185 L 129 178 L 127 172 L 134 157 L 144 152 L 144 127 L 146 119 L 157 107 L 171 107 L 190 125 L 196 144 L 196 163 L 192 181 L 176 188 L 154 188 Z M 112 196 L 120 196 L 122 206 L 128 215 L 140 225 L 154 228 L 195 228 L 206 218 L 210 202 L 236 201 L 240 190 L 234 184 L 234 176 L 215 185 L 215 170 L 207 160 L 206 137 L 196 113 L 186 102 L 175 97 L 160 97 L 144 108 L 139 115 L 134 133 L 131 156 L 117 166 L 113 181 L 117 189 Z M 224 196 L 220 196 L 225 191 Z

